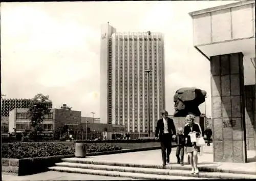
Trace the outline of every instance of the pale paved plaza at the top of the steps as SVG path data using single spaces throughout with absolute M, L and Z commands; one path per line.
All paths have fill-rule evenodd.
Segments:
M 170 165 L 177 165 L 175 155 L 176 148 L 172 148 L 170 154 Z M 247 151 L 249 163 L 218 163 L 213 161 L 212 143 L 211 146 L 203 148 L 203 154 L 198 156 L 198 167 L 218 168 L 222 170 L 238 170 L 242 172 L 256 172 L 256 152 Z M 143 165 L 162 165 L 161 150 L 138 151 L 129 153 L 109 154 L 88 156 L 84 160 L 116 162 L 126 164 L 143 164 Z M 184 167 L 190 167 L 187 164 L 187 155 L 184 155 Z M 246 169 L 245 169 L 246 168 Z

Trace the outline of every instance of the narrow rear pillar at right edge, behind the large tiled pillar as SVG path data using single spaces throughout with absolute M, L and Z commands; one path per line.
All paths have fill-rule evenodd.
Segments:
M 245 85 L 245 124 L 247 150 L 255 150 L 255 85 Z

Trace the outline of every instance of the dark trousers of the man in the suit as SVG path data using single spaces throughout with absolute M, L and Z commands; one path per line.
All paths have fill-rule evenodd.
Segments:
M 172 151 L 172 134 L 164 133 L 160 139 L 162 159 L 163 163 L 168 163 L 170 161 L 170 152 Z

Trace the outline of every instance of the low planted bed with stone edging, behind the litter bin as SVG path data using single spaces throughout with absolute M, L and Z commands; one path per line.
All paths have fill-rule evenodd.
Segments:
M 88 156 L 160 149 L 158 142 L 111 143 L 110 141 L 110 143 L 89 142 L 86 145 Z M 48 171 L 48 167 L 61 162 L 63 157 L 74 157 L 74 153 L 75 142 L 3 143 L 2 171 L 15 175 L 44 172 Z

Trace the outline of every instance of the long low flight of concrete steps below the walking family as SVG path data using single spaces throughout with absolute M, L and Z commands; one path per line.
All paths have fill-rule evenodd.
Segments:
M 191 174 L 189 167 L 180 166 L 170 169 L 170 165 L 165 168 L 160 165 L 132 165 L 123 163 L 97 162 L 83 160 L 78 158 L 62 159 L 63 162 L 56 163 L 56 166 L 50 167 L 50 170 L 72 173 L 84 173 L 105 176 L 130 177 L 139 179 L 205 179 L 205 178 L 256 178 L 256 175 L 239 174 L 239 173 L 223 173 L 223 172 L 207 172 L 200 171 L 199 174 Z

